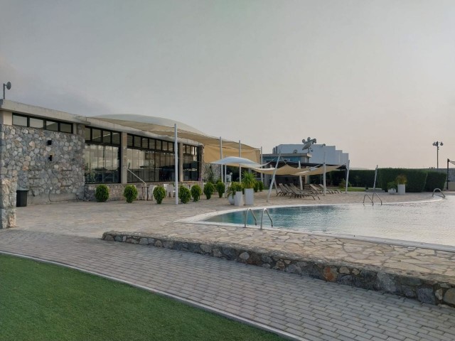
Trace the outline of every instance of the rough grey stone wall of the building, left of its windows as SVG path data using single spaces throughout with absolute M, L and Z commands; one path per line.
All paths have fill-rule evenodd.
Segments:
M 1 176 L 17 178 L 28 195 L 78 193 L 84 185 L 83 126 L 77 134 L 1 125 Z M 48 146 L 48 140 L 52 144 Z M 49 161 L 49 156 L 53 161 Z

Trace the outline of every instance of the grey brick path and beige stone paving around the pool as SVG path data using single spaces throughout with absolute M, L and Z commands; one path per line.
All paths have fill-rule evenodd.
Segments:
M 359 203 L 363 195 L 327 195 L 316 202 L 272 195 L 267 203 L 265 193 L 261 193 L 256 196 L 256 205 Z M 382 196 L 387 202 L 429 198 L 428 193 Z M 450 250 L 181 223 L 176 220 L 232 206 L 216 197 L 177 207 L 173 202 L 68 202 L 18 207 L 19 227 L 0 230 L 0 250 L 127 281 L 296 340 L 455 340 L 453 308 L 188 252 L 99 240 L 109 230 L 141 232 L 274 249 L 454 282 L 455 253 Z

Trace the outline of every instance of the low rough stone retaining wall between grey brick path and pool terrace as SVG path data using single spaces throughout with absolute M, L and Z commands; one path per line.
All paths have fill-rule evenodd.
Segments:
M 299 259 L 294 254 L 283 254 L 264 249 L 242 249 L 233 244 L 202 244 L 197 241 L 170 239 L 139 232 L 110 231 L 105 232 L 102 239 L 205 254 L 243 264 L 262 266 L 266 269 L 393 293 L 414 298 L 423 303 L 446 304 L 455 307 L 455 281 L 447 283 L 438 279 L 389 274 L 373 266 L 329 264 L 327 261 L 319 259 Z

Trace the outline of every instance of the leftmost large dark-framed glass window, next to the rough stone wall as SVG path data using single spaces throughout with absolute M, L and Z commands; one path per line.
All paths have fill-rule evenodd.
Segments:
M 116 131 L 85 128 L 85 183 L 120 182 L 120 148 L 112 141 L 115 134 L 119 136 Z

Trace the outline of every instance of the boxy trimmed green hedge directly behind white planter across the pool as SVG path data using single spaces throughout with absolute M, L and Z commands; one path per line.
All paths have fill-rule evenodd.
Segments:
M 417 169 L 407 168 L 379 168 L 378 169 L 378 187 L 383 190 L 387 189 L 387 183 L 395 181 L 397 175 L 406 175 L 407 193 L 420 193 L 424 191 L 425 183 L 427 182 L 427 172 Z M 349 176 L 350 178 L 350 176 Z

